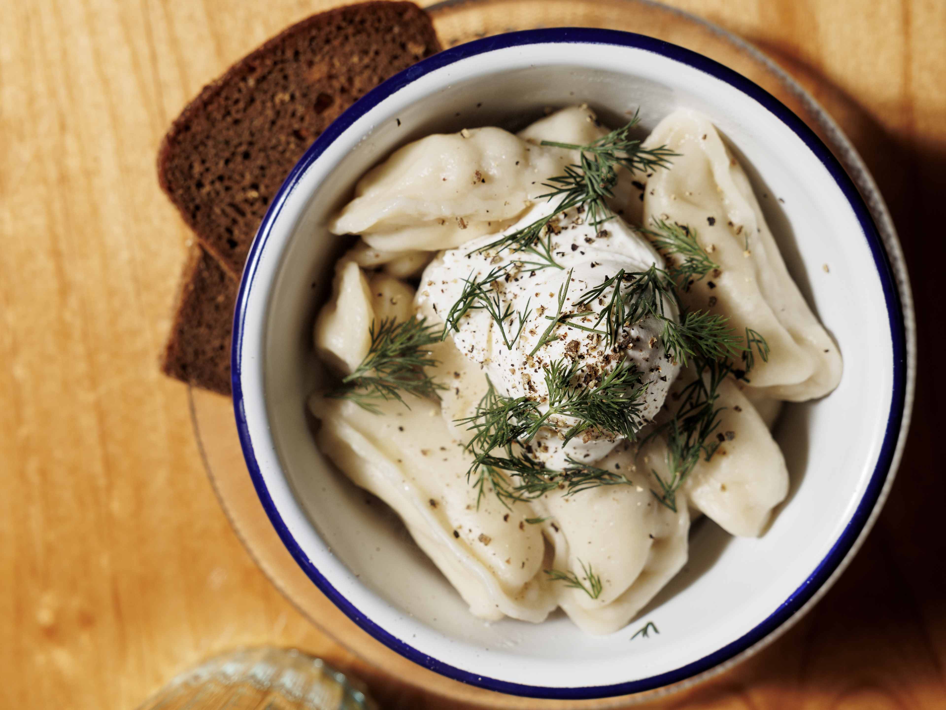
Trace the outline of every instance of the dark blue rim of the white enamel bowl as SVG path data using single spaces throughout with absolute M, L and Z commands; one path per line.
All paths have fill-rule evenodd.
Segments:
M 331 145 L 344 131 L 346 131 L 356 120 L 368 111 L 377 106 L 385 98 L 390 97 L 395 92 L 404 88 L 412 81 L 417 80 L 432 71 L 440 69 L 448 64 L 459 62 L 461 60 L 473 57 L 486 52 L 505 49 L 507 47 L 523 46 L 528 44 L 612 44 L 623 47 L 633 47 L 667 57 L 691 66 L 694 69 L 702 71 L 710 76 L 726 81 L 743 92 L 750 98 L 754 98 L 767 111 L 775 115 L 788 128 L 794 131 L 797 136 L 815 153 L 815 156 L 821 161 L 825 169 L 831 174 L 835 183 L 841 188 L 854 214 L 857 217 L 861 228 L 867 239 L 867 245 L 870 248 L 874 258 L 874 264 L 880 277 L 881 285 L 884 291 L 884 297 L 887 308 L 887 315 L 890 324 L 890 334 L 893 343 L 893 396 L 891 399 L 890 413 L 887 418 L 887 425 L 884 433 L 884 441 L 878 455 L 877 464 L 871 474 L 870 481 L 864 492 L 861 501 L 854 511 L 850 523 L 832 545 L 832 549 L 821 560 L 815 570 L 804 582 L 802 582 L 795 592 L 792 593 L 774 612 L 764 619 L 752 630 L 747 631 L 743 636 L 730 642 L 723 648 L 713 651 L 709 655 L 693 661 L 685 666 L 680 666 L 674 670 L 660 673 L 649 678 L 643 678 L 637 681 L 628 681 L 625 683 L 614 683 L 609 685 L 587 685 L 576 687 L 544 687 L 539 685 L 528 685 L 524 683 L 511 683 L 500 681 L 493 678 L 487 678 L 475 673 L 470 673 L 463 668 L 450 666 L 443 661 L 432 658 L 426 653 L 412 648 L 405 641 L 397 638 L 387 630 L 382 629 L 374 621 L 359 611 L 350 601 L 342 596 L 332 584 L 319 572 L 319 570 L 307 558 L 306 553 L 299 546 L 298 542 L 289 533 L 289 528 L 283 521 L 279 511 L 272 502 L 269 490 L 263 480 L 261 471 L 254 455 L 253 441 L 251 439 L 243 402 L 243 391 L 240 382 L 242 362 L 240 352 L 243 342 L 243 320 L 246 316 L 246 305 L 248 294 L 253 285 L 256 267 L 260 255 L 269 239 L 273 224 L 276 222 L 286 198 L 297 184 L 302 175 L 322 155 L 326 148 Z M 863 528 L 870 518 L 871 511 L 876 506 L 884 489 L 885 480 L 890 471 L 894 453 L 897 448 L 897 441 L 901 433 L 902 417 L 906 395 L 906 377 L 907 377 L 907 351 L 906 336 L 903 326 L 903 314 L 901 307 L 900 294 L 896 287 L 892 269 L 884 248 L 883 241 L 880 238 L 877 227 L 870 216 L 867 205 L 861 198 L 857 187 L 851 181 L 848 173 L 841 167 L 841 164 L 832 155 L 821 139 L 805 125 L 802 120 L 792 113 L 792 111 L 782 104 L 779 99 L 773 97 L 761 86 L 746 79 L 741 74 L 727 68 L 719 62 L 710 60 L 701 54 L 697 54 L 690 49 L 657 40 L 653 37 L 623 32 L 613 29 L 596 29 L 587 27 L 556 27 L 550 29 L 529 29 L 518 32 L 487 37 L 476 40 L 468 44 L 446 49 L 439 54 L 435 54 L 426 60 L 422 60 L 408 69 L 396 74 L 389 80 L 384 81 L 375 89 L 370 91 L 364 97 L 355 102 L 347 111 L 339 116 L 335 121 L 319 136 L 319 138 L 309 147 L 306 154 L 296 164 L 295 168 L 289 173 L 289 177 L 283 186 L 280 187 L 272 200 L 270 208 L 267 210 L 259 230 L 256 232 L 256 238 L 247 257 L 246 268 L 240 281 L 239 293 L 236 299 L 236 312 L 234 315 L 234 337 L 232 346 L 232 379 L 234 410 L 236 414 L 236 428 L 243 448 L 243 455 L 246 458 L 247 467 L 250 470 L 250 476 L 253 479 L 254 488 L 259 496 L 260 503 L 270 517 L 273 527 L 279 534 L 280 539 L 289 549 L 292 557 L 315 583 L 315 585 L 332 602 L 342 610 L 352 621 L 377 641 L 388 648 L 400 653 L 402 656 L 410 659 L 414 663 L 429 668 L 441 675 L 447 676 L 461 683 L 477 685 L 488 690 L 499 693 L 508 693 L 532 698 L 544 698 L 553 700 L 590 700 L 596 698 L 608 698 L 622 695 L 631 695 L 641 693 L 657 688 L 681 683 L 688 679 L 709 671 L 715 666 L 720 666 L 730 659 L 735 658 L 745 650 L 752 648 L 757 643 L 766 638 L 773 631 L 788 621 L 795 613 L 804 607 L 804 605 L 817 593 L 817 591 L 832 576 L 838 566 L 844 561 L 858 540 Z

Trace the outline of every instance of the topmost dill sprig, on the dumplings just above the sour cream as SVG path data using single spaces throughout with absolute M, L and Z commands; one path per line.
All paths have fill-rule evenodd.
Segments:
M 607 200 L 614 197 L 614 186 L 618 183 L 618 169 L 631 172 L 648 172 L 657 168 L 669 168 L 670 160 L 677 153 L 666 146 L 655 149 L 640 147 L 640 141 L 630 137 L 638 125 L 640 112 L 619 129 L 607 133 L 584 146 L 574 143 L 559 143 L 544 140 L 543 146 L 578 151 L 577 165 L 570 165 L 565 174 L 549 179 L 545 185 L 552 192 L 540 197 L 550 200 L 560 197 L 564 203 L 585 204 L 592 224 L 600 224 L 611 217 Z

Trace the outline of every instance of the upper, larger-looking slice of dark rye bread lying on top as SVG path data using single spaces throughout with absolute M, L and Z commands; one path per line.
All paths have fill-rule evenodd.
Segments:
M 187 105 L 158 154 L 161 187 L 238 277 L 267 206 L 312 141 L 357 98 L 439 50 L 428 15 L 412 3 L 313 15 Z

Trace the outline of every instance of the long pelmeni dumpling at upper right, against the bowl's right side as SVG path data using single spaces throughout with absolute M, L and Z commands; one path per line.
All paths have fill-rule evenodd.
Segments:
M 745 171 L 710 120 L 680 109 L 644 145 L 680 153 L 647 181 L 645 226 L 661 219 L 688 225 L 720 266 L 681 294 L 687 307 L 727 316 L 738 333 L 762 334 L 768 362 L 756 358 L 753 387 L 791 401 L 831 392 L 841 378 L 840 352 L 788 274 Z

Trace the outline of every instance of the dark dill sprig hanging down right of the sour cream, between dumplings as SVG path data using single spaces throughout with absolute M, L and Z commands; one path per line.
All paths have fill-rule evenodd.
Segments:
M 716 406 L 719 388 L 732 371 L 731 364 L 716 360 L 694 358 L 695 379 L 679 393 L 679 406 L 670 420 L 651 433 L 665 432 L 667 439 L 667 469 L 662 478 L 652 470 L 660 492 L 651 490 L 663 506 L 676 512 L 676 493 L 683 486 L 701 457 L 709 461 L 720 442 L 710 439 L 719 427 L 723 407 Z

